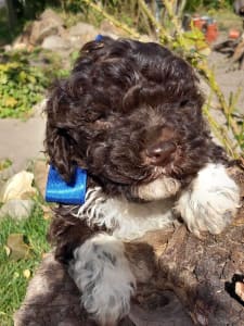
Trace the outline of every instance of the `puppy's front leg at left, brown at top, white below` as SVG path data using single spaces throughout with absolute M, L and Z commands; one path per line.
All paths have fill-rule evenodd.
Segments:
M 136 288 L 125 244 L 62 210 L 52 222 L 49 238 L 56 246 L 55 258 L 68 265 L 87 312 L 99 325 L 117 325 L 129 313 Z

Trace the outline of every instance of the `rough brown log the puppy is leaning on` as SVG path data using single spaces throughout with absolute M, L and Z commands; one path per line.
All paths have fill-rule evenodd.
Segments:
M 232 175 L 244 197 L 244 174 L 233 170 Z M 158 273 L 152 290 L 142 287 L 146 300 L 138 294 L 120 326 L 244 326 L 243 201 L 221 235 L 198 239 L 179 224 L 143 240 L 154 248 Z M 94 325 L 81 310 L 80 293 L 65 266 L 52 253 L 31 279 L 14 319 L 15 326 Z

